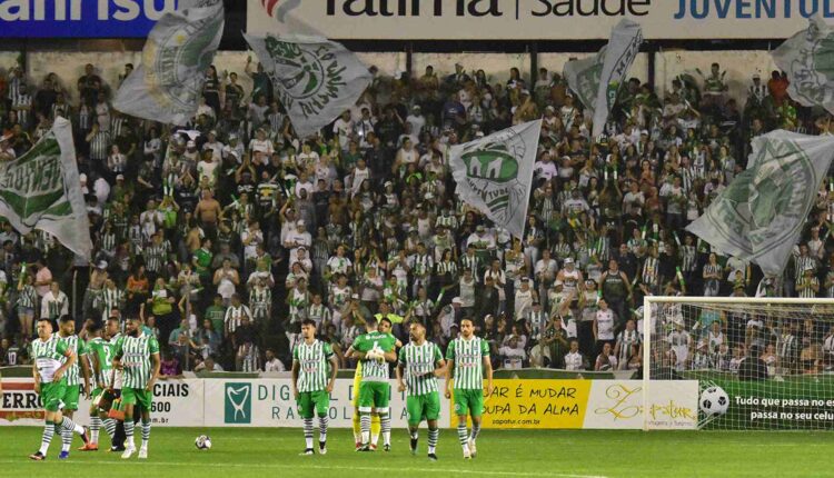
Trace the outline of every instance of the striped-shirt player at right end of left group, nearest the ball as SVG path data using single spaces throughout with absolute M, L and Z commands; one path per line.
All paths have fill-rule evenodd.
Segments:
M 142 322 L 138 317 L 128 319 L 126 333 L 116 342 L 113 367 L 123 372 L 121 401 L 125 406 L 127 445 L 121 458 L 128 459 L 136 452 L 133 442 L 133 407 L 136 406 L 142 414 L 142 446 L 139 449 L 139 458 L 148 458 L 150 405 L 160 367 L 159 342 L 153 336 L 142 333 Z

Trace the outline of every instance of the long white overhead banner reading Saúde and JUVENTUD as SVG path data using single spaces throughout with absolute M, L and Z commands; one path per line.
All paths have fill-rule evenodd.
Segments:
M 788 38 L 831 0 L 248 0 L 247 31 L 312 26 L 349 39 L 606 39 L 623 18 L 656 39 Z

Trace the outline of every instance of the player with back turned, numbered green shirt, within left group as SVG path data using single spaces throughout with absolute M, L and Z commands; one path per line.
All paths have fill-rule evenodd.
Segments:
M 105 394 L 112 389 L 113 378 L 113 343 L 110 342 L 109 331 L 113 328 L 118 330 L 118 320 L 109 320 L 107 329 L 103 329 L 100 322 L 92 322 L 87 327 L 87 335 L 90 338 L 87 343 L 87 351 L 92 362 L 92 378 L 96 388 L 92 390 L 92 404 L 90 404 L 90 442 L 79 448 L 81 451 L 98 451 L 99 430 L 102 422 L 111 442 L 116 435 L 116 420 L 107 416 L 107 402 L 109 400 L 105 399 Z M 108 392 L 107 396 L 112 397 L 112 394 Z

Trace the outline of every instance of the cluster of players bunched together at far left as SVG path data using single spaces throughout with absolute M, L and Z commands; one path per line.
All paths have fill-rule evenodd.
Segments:
M 159 343 L 141 319 L 128 319 L 125 333 L 118 319 L 87 327 L 87 340 L 76 335 L 75 321 L 62 317 L 52 332 L 49 319 L 38 321 L 38 338 L 31 343 L 34 390 L 44 408 L 41 446 L 30 455 L 44 460 L 56 432 L 61 436 L 59 459 L 69 457 L 73 435 L 81 436 L 81 451 L 98 451 L 103 425 L 111 450 L 128 459 L 137 452 L 133 441 L 135 412 L 141 418 L 142 441 L 138 457 L 148 458 L 153 385 L 159 377 Z M 82 388 L 83 387 L 83 388 Z M 73 421 L 81 394 L 91 399 L 90 426 Z

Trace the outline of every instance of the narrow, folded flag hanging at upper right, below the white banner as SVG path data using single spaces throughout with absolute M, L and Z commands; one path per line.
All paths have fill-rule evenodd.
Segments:
M 563 76 L 567 84 L 594 117 L 593 138 L 603 132 L 623 78 L 628 74 L 642 43 L 639 23 L 624 19 L 612 30 L 608 44 L 599 53 L 565 64 Z

